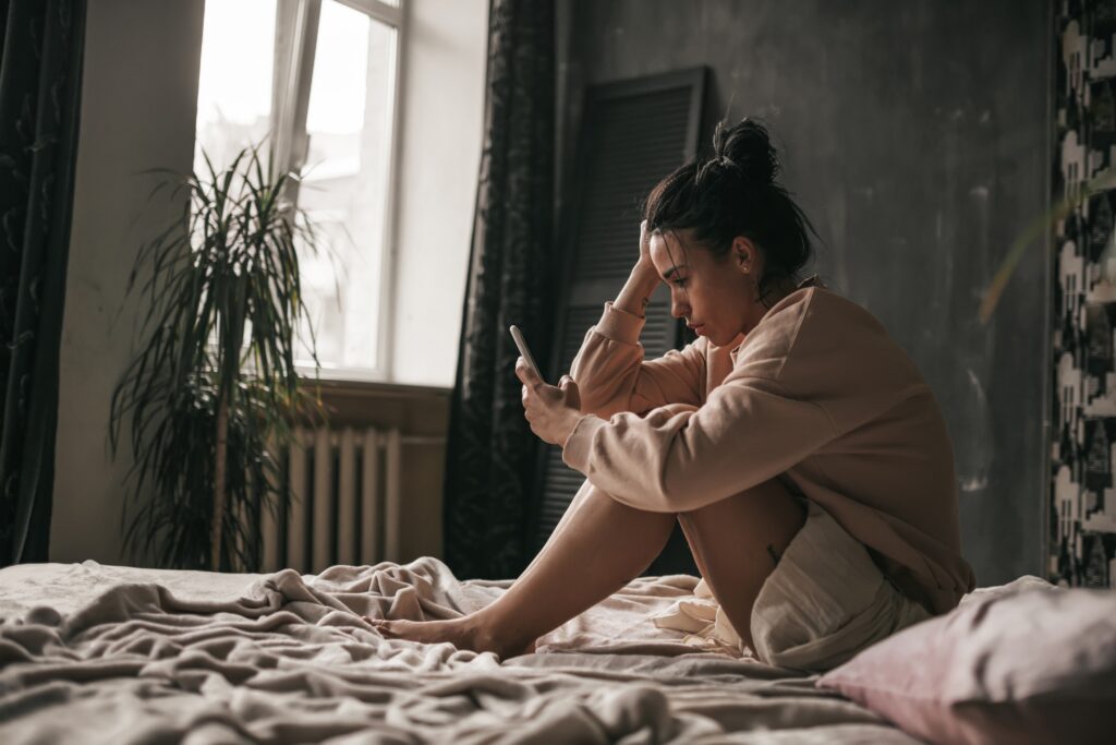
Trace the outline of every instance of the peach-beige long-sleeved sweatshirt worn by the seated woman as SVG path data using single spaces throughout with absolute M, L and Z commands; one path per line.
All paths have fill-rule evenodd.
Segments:
M 747 336 L 645 362 L 644 318 L 605 304 L 570 375 L 581 417 L 562 459 L 617 500 L 679 513 L 781 477 L 933 612 L 974 586 L 953 452 L 930 386 L 870 313 L 820 287 Z

